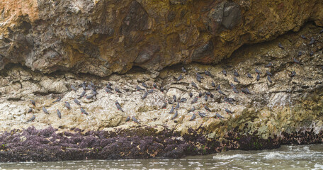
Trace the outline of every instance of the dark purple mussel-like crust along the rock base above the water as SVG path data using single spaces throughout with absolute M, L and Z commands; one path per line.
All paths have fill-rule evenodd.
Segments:
M 186 135 L 151 127 L 118 129 L 114 132 L 88 131 L 78 128 L 57 132 L 49 127 L 37 130 L 12 130 L 0 135 L 0 162 L 50 162 L 82 159 L 180 158 L 212 154 L 229 149 L 273 149 L 286 144 L 321 143 L 323 133 L 295 132 L 261 139 L 257 135 L 229 132 L 221 139 L 208 139 L 202 129 L 188 130 Z

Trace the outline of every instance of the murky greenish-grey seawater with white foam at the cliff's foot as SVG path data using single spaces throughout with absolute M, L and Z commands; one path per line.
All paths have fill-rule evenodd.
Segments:
M 323 144 L 234 150 L 182 159 L 0 163 L 0 169 L 323 169 Z

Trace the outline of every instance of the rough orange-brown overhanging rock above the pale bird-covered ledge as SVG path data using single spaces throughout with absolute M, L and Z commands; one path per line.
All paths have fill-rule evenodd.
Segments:
M 306 21 L 323 26 L 322 8 L 321 0 L 1 1 L 0 69 L 19 63 L 104 77 L 217 63 Z

